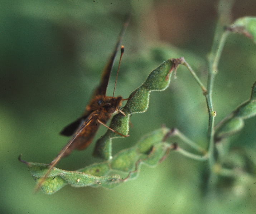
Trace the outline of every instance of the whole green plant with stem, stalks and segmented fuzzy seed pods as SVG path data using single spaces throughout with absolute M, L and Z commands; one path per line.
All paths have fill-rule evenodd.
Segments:
M 162 127 L 143 137 L 134 147 L 124 149 L 112 157 L 112 138 L 120 137 L 120 135 L 108 129 L 105 135 L 96 142 L 94 151 L 94 155 L 105 159 L 105 162 L 96 163 L 76 171 L 66 171 L 54 167 L 49 173 L 48 178 L 41 185 L 42 191 L 52 194 L 67 184 L 74 187 L 97 187 L 101 185 L 102 187 L 112 188 L 135 178 L 139 173 L 141 163 L 155 166 L 161 162 L 170 149 L 198 161 L 208 161 L 210 166 L 209 180 L 212 183 L 216 183 L 217 179 L 214 178 L 217 178 L 217 174 L 235 176 L 234 173 L 236 173 L 236 170 L 225 170 L 222 168 L 224 162 L 220 158 L 221 151 L 218 145 L 226 142 L 223 139 L 227 139 L 229 136 L 240 131 L 243 128 L 245 119 L 256 116 L 256 81 L 253 83 L 250 99 L 238 106 L 216 126 L 214 125 L 216 112 L 213 109 L 212 103 L 213 83 L 218 73 L 218 63 L 227 36 L 231 33 L 239 33 L 256 42 L 256 18 L 243 17 L 236 20 L 232 25 L 224 27 L 227 16 L 230 14 L 231 6 L 232 1 L 221 1 L 219 4 L 218 11 L 220 12 L 220 18 L 217 24 L 212 50 L 208 57 L 207 87 L 204 86 L 183 57 L 166 60 L 149 74 L 148 78 L 139 88 L 131 93 L 130 99 L 122 109 L 125 117 L 121 114 L 116 114 L 110 123 L 111 129 L 126 136 L 129 132 L 129 118 L 131 114 L 145 112 L 148 109 L 150 92 L 165 90 L 170 84 L 173 71 L 175 73 L 178 65 L 182 64 L 188 68 L 195 81 L 201 87 L 203 95 L 206 97 L 209 116 L 207 149 L 199 147 L 179 132 L 178 129 Z M 223 8 L 225 9 L 222 10 Z M 188 146 L 201 153 L 201 155 L 190 153 L 180 148 L 176 143 L 167 143 L 166 139 L 170 136 L 179 137 Z M 21 162 L 26 163 L 36 182 L 45 175 L 45 172 L 49 168 L 48 164 Z M 254 162 L 253 164 L 254 168 L 256 168 L 256 164 Z M 112 175 L 112 171 L 120 173 Z

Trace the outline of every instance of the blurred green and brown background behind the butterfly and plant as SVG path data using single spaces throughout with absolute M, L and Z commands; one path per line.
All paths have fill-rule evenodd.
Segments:
M 255 213 L 256 184 L 207 189 L 207 165 L 174 152 L 156 168 L 142 165 L 137 179 L 113 190 L 66 186 L 53 195 L 35 195 L 35 182 L 18 162 L 22 153 L 25 161 L 49 163 L 66 144 L 68 138 L 58 133 L 83 112 L 127 13 L 131 22 L 122 41 L 116 96 L 127 98 L 151 70 L 174 57 L 184 56 L 206 84 L 216 8 L 217 1 L 200 0 L 1 0 L 0 213 Z M 254 1 L 236 1 L 231 13 L 232 20 L 255 15 Z M 228 37 L 213 91 L 216 122 L 250 97 L 255 54 L 251 40 Z M 131 117 L 130 137 L 113 140 L 114 154 L 162 124 L 207 147 L 201 89 L 184 68 L 177 77 L 166 91 L 151 93 L 147 112 Z M 232 146 L 255 151 L 255 124 L 255 118 L 248 119 Z M 105 131 L 101 127 L 95 140 Z M 91 155 L 95 140 L 57 167 L 76 170 L 101 161 Z

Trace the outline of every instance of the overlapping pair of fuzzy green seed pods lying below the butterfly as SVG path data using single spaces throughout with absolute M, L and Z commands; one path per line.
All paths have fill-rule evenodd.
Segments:
M 155 166 L 165 157 L 170 144 L 161 141 L 169 131 L 170 129 L 165 127 L 157 129 L 144 136 L 134 147 L 120 151 L 113 159 L 92 164 L 77 171 L 61 170 L 54 167 L 40 188 L 46 194 L 53 194 L 67 184 L 73 187 L 102 186 L 113 188 L 135 178 L 139 173 L 141 163 Z M 145 150 L 141 148 L 152 149 L 148 154 L 145 154 Z M 44 177 L 50 167 L 48 164 L 21 162 L 27 165 L 37 183 L 40 182 L 40 179 Z M 120 174 L 111 175 L 112 171 L 115 171 L 115 173 L 119 171 Z M 127 172 L 129 172 L 127 177 L 120 179 L 121 174 Z

